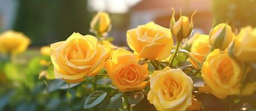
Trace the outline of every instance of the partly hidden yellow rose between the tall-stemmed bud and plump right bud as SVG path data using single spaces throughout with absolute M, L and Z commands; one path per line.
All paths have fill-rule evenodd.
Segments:
M 210 44 L 209 44 L 209 36 L 205 34 L 201 34 L 196 39 L 194 39 L 192 46 L 191 46 L 191 56 L 195 57 L 198 62 L 203 62 L 203 59 L 210 51 Z M 198 68 L 197 63 L 193 59 L 188 59 L 189 62 L 193 64 L 195 68 Z

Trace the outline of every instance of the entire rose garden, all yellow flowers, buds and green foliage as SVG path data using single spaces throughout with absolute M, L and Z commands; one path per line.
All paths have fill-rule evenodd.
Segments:
M 256 110 L 256 28 L 220 23 L 191 36 L 196 12 L 174 14 L 170 28 L 129 29 L 128 48 L 112 44 L 98 12 L 93 35 L 74 32 L 29 63 L 17 55 L 30 39 L 3 32 L 0 110 Z

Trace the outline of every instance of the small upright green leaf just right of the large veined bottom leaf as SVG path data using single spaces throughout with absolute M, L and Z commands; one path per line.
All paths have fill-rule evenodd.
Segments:
M 117 93 L 113 97 L 110 98 L 110 104 L 108 108 L 110 109 L 118 109 L 122 105 L 122 95 L 123 93 Z

